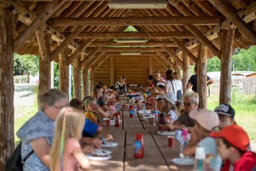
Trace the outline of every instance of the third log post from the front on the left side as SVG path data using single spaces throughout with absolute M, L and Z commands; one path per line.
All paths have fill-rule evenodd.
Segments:
M 68 52 L 65 48 L 59 54 L 59 89 L 69 94 L 69 68 L 68 68 Z

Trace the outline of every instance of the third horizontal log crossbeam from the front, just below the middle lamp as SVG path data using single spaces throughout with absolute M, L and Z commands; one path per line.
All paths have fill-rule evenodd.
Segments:
M 122 44 L 119 44 L 115 41 L 94 41 L 89 45 L 89 47 L 109 47 L 109 46 L 113 46 L 113 47 L 122 47 L 122 46 L 177 47 L 177 45 L 173 41 L 147 41 L 145 43 L 122 43 Z

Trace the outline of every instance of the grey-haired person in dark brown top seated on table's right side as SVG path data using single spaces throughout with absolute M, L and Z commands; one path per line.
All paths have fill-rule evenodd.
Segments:
M 189 112 L 198 108 L 199 97 L 198 93 L 192 92 L 183 96 L 184 110 L 180 111 L 179 118 L 173 124 L 165 125 L 170 130 L 182 130 L 187 127 L 188 132 L 194 130 L 195 122 L 189 117 Z

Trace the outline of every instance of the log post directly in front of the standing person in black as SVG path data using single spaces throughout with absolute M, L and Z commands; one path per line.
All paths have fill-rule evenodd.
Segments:
M 202 42 L 197 45 L 198 63 L 197 63 L 197 92 L 199 94 L 198 108 L 207 108 L 207 48 Z

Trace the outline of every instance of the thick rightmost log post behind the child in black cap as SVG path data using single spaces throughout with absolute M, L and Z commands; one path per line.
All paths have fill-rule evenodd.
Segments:
M 230 104 L 231 98 L 231 56 L 234 32 L 234 28 L 229 28 L 221 33 L 220 103 L 226 104 Z

